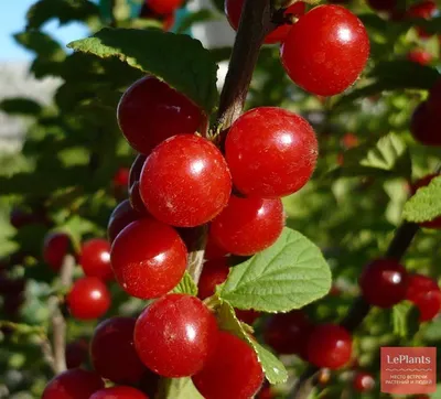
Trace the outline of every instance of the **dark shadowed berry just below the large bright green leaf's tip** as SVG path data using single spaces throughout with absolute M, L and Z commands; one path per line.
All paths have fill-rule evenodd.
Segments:
M 263 327 L 265 343 L 279 354 L 302 354 L 312 331 L 312 323 L 303 311 L 272 315 Z

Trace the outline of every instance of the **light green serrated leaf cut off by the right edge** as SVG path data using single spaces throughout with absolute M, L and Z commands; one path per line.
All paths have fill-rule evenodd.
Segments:
M 441 176 L 432 179 L 405 204 L 402 217 L 409 222 L 429 222 L 441 216 Z

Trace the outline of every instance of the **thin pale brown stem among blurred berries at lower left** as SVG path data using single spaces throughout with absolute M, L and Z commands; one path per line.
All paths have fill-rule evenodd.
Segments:
M 66 255 L 60 270 L 61 288 L 66 289 L 72 285 L 72 279 L 75 268 L 75 258 Z M 50 364 L 55 374 L 66 370 L 66 321 L 62 312 L 62 300 L 60 295 L 52 295 L 47 301 L 49 309 L 52 310 L 52 346 L 49 342 L 42 346 L 45 358 L 51 360 Z

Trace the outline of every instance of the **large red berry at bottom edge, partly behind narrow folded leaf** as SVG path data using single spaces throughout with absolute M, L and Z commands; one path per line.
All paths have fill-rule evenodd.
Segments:
M 260 389 L 263 373 L 252 348 L 222 331 L 215 352 L 192 380 L 205 399 L 245 399 Z

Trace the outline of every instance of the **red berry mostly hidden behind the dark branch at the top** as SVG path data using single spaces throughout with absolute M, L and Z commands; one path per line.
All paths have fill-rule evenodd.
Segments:
M 227 15 L 228 22 L 235 31 L 237 31 L 237 29 L 239 28 L 240 14 L 244 8 L 244 0 L 225 1 L 225 14 Z M 292 14 L 294 17 L 300 17 L 304 14 L 306 4 L 303 1 L 298 1 L 287 9 L 284 15 Z M 265 43 L 272 44 L 282 42 L 290 29 L 290 24 L 280 25 L 271 33 L 267 34 L 267 36 L 265 37 Z

